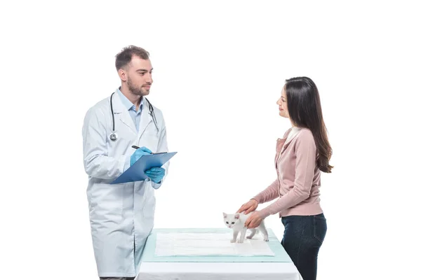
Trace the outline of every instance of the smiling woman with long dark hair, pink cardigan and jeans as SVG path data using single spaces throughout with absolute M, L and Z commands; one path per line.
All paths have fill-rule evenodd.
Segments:
M 307 77 L 286 80 L 281 92 L 279 115 L 292 127 L 276 143 L 278 178 L 237 211 L 255 211 L 246 221 L 256 228 L 262 219 L 279 214 L 285 227 L 281 244 L 304 280 L 316 279 L 317 255 L 326 235 L 326 218 L 319 199 L 321 172 L 330 173 L 332 149 L 321 113 L 319 91 Z

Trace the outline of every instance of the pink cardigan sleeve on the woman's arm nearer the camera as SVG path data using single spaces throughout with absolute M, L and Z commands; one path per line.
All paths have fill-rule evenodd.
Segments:
M 296 146 L 295 181 L 292 189 L 260 211 L 263 218 L 279 213 L 285 209 L 299 204 L 307 199 L 312 189 L 314 169 L 316 168 L 316 144 L 312 133 L 302 132 L 297 139 Z

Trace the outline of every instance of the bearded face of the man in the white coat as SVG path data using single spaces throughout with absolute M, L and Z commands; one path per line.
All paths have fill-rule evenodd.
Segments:
M 141 59 L 133 56 L 131 62 L 126 66 L 127 86 L 135 95 L 145 96 L 153 83 L 152 64 L 149 59 Z

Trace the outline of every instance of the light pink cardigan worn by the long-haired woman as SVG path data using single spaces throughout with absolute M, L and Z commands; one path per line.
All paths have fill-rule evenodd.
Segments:
M 260 210 L 260 216 L 279 213 L 279 217 L 291 215 L 316 215 L 323 211 L 320 207 L 320 170 L 316 167 L 316 144 L 312 132 L 301 130 L 292 139 L 286 138 L 276 143 L 275 168 L 278 178 L 265 190 L 253 197 L 260 203 L 278 198 Z

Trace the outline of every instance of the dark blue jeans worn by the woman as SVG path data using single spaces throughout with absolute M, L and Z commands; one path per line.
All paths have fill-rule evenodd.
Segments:
M 283 248 L 303 280 L 316 280 L 317 255 L 328 230 L 325 216 L 286 216 L 281 221 L 285 227 Z

